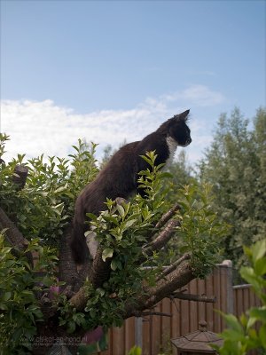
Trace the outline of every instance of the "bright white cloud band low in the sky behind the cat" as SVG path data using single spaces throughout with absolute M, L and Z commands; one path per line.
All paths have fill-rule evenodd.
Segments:
M 66 156 L 78 138 L 98 143 L 100 154 L 107 144 L 117 147 L 125 139 L 130 142 L 144 138 L 161 122 L 189 106 L 217 105 L 222 100 L 222 94 L 202 85 L 193 85 L 158 99 L 145 99 L 129 110 L 102 110 L 90 114 L 77 114 L 70 108 L 57 106 L 51 100 L 3 100 L 1 131 L 11 136 L 4 160 L 9 161 L 18 153 L 25 153 L 27 157 L 40 154 Z M 177 106 L 177 102 L 182 106 Z M 190 105 L 186 106 L 188 102 Z M 202 127 L 202 122 L 200 124 Z M 197 149 L 192 146 L 188 149 L 192 161 L 200 157 L 200 124 L 195 121 L 190 123 L 193 142 L 198 136 Z M 205 142 L 209 140 L 204 139 Z

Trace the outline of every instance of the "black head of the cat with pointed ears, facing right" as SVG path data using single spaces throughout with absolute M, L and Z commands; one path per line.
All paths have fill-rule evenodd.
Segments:
M 182 114 L 175 114 L 167 122 L 164 122 L 159 130 L 176 140 L 177 146 L 188 146 L 192 143 L 191 130 L 187 125 L 188 114 L 190 110 L 184 111 Z

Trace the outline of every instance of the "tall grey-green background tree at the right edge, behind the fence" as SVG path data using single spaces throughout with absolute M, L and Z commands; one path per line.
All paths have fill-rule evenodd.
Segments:
M 242 246 L 266 232 L 266 111 L 259 109 L 254 128 L 239 109 L 220 116 L 212 145 L 200 162 L 201 181 L 214 188 L 214 209 L 231 225 L 223 242 L 226 257 L 239 269 L 246 260 Z

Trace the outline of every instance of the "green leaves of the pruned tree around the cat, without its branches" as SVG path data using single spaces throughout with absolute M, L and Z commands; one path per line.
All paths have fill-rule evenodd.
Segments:
M 6 139 L 1 135 L 1 155 Z M 13 254 L 13 248 L 4 242 L 2 231 L 0 328 L 4 334 L 1 338 L 4 353 L 27 353 L 27 347 L 32 346 L 32 342 L 21 343 L 21 339 L 32 339 L 37 323 L 45 320 L 39 304 L 44 294 L 50 295 L 59 312 L 59 327 L 65 327 L 68 333 L 81 327 L 121 325 L 126 306 L 130 303 L 134 306 L 139 297 L 148 295 L 149 287 L 156 286 L 163 264 L 171 264 L 186 252 L 191 255 L 194 275 L 204 277 L 219 258 L 217 240 L 224 231 L 210 207 L 207 185 L 202 190 L 197 185 L 176 189 L 176 201 L 180 203 L 174 217 L 178 242 L 159 251 L 150 252 L 145 248 L 151 235 L 156 235 L 154 225 L 170 207 L 169 185 L 165 181 L 171 181 L 171 177 L 154 165 L 156 154 L 151 152 L 143 157 L 150 169 L 139 176 L 145 199 L 137 195 L 121 204 L 106 201 L 106 211 L 99 217 L 90 215 L 102 259 L 110 260 L 111 273 L 99 288 L 86 281 L 83 290 L 87 304 L 83 310 L 74 308 L 57 288 L 61 285 L 57 281 L 58 241 L 60 236 L 64 238 L 66 225 L 73 216 L 75 196 L 98 172 L 95 145 L 88 150 L 79 141 L 74 151 L 67 159 L 50 157 L 45 162 L 41 156 L 25 161 L 19 155 L 12 162 L 2 163 L 0 208 L 30 241 L 27 250 Z M 12 181 L 18 163 L 28 168 L 27 182 L 22 189 Z M 27 262 L 27 251 L 37 253 L 38 262 L 34 267 Z M 40 274 L 43 270 L 44 275 Z M 52 289 L 56 294 L 51 295 Z

